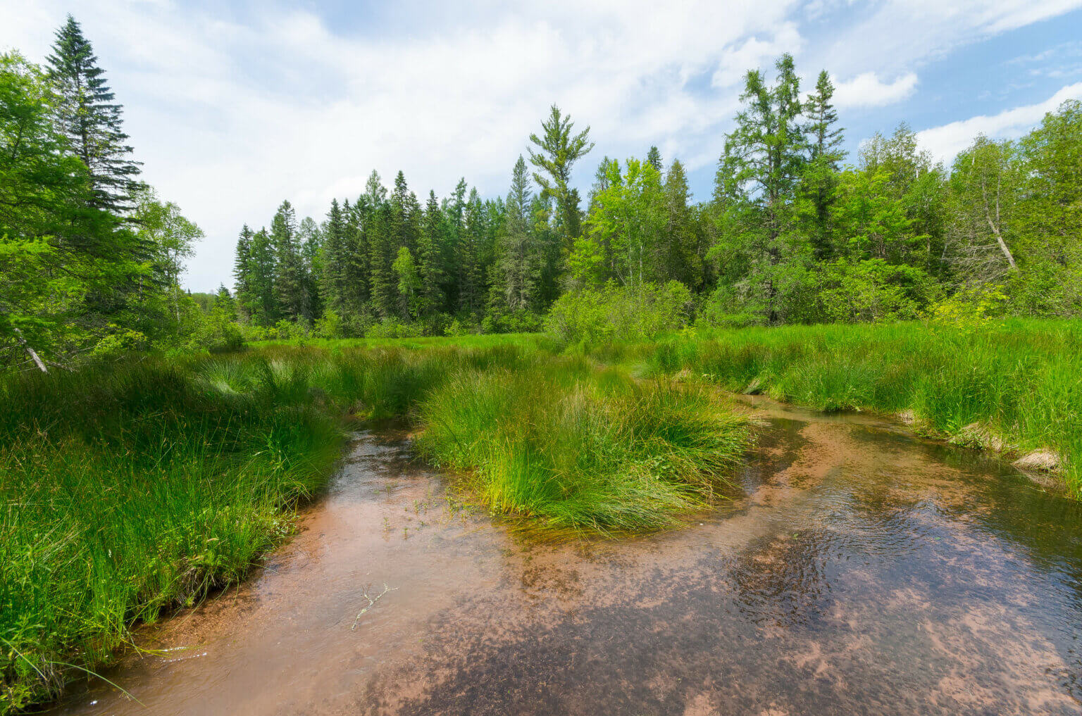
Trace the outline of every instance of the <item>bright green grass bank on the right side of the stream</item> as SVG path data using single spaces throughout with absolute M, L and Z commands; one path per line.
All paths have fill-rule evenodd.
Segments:
M 817 410 L 900 415 L 928 435 L 1008 456 L 1050 450 L 1068 490 L 1082 496 L 1079 321 L 740 329 L 598 346 L 594 355 Z

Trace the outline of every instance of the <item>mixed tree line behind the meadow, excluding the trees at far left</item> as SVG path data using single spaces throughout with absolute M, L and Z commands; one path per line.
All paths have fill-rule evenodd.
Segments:
M 802 93 L 792 56 L 775 69 L 747 74 L 708 201 L 650 147 L 603 158 L 582 205 L 571 169 L 590 130 L 553 106 L 505 198 L 463 180 L 422 207 L 400 172 L 390 191 L 373 172 L 318 225 L 283 202 L 269 229 L 246 226 L 242 320 L 326 335 L 532 330 L 562 295 L 670 281 L 686 314 L 730 326 L 1082 309 L 1078 102 L 1019 141 L 976 137 L 949 167 L 905 123 L 846 163 L 828 72 Z

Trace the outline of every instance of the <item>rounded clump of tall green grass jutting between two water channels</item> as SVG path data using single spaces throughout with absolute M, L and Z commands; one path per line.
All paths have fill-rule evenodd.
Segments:
M 639 385 L 581 359 L 458 373 L 419 416 L 425 452 L 472 469 L 493 511 L 562 528 L 672 525 L 705 504 L 744 445 L 742 421 L 701 387 Z

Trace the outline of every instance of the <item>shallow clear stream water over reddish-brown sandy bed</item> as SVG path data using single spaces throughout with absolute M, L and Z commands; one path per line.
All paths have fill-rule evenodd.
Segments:
M 524 535 L 359 435 L 265 569 L 107 672 L 141 703 L 95 680 L 52 713 L 1082 713 L 1079 503 L 886 422 L 755 410 L 731 502 L 622 541 Z

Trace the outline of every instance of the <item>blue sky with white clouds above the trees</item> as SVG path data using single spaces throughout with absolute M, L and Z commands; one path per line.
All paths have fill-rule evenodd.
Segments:
M 805 90 L 830 72 L 852 160 L 906 121 L 949 163 L 1082 98 L 1082 0 L 0 0 L 0 49 L 42 62 L 69 12 L 144 180 L 206 233 L 193 291 L 232 284 L 242 224 L 283 199 L 321 221 L 373 169 L 505 194 L 553 103 L 596 143 L 583 195 L 603 156 L 657 145 L 708 199 L 743 74 L 783 52 Z

